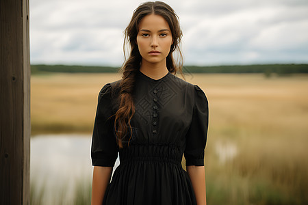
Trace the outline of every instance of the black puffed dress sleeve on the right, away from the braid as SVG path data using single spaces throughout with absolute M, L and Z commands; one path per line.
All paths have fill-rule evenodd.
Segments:
M 186 166 L 204 165 L 204 150 L 207 142 L 209 107 L 207 97 L 198 85 L 194 85 L 194 108 L 192 121 L 186 135 L 184 156 Z

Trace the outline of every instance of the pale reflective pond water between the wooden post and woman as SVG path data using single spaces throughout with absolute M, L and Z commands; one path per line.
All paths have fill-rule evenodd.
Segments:
M 77 184 L 92 182 L 90 135 L 36 135 L 31 137 L 30 181 L 32 191 L 42 192 L 44 204 L 55 198 L 74 197 Z M 119 161 L 116 161 L 116 166 Z M 62 196 L 60 196 L 60 194 Z M 57 202 L 59 200 L 57 199 Z

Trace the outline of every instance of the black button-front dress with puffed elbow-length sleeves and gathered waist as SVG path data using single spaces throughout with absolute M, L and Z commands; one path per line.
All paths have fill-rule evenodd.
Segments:
M 136 113 L 131 132 L 118 148 L 114 113 L 119 81 L 107 83 L 99 93 L 92 136 L 92 165 L 114 167 L 103 204 L 196 204 L 190 178 L 181 166 L 204 165 L 208 103 L 198 85 L 168 72 L 155 80 L 138 71 L 133 100 Z

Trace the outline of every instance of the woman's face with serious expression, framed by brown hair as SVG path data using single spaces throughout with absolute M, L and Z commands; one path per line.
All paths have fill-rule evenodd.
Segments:
M 139 24 L 137 44 L 142 61 L 166 64 L 172 45 L 172 33 L 167 21 L 159 15 L 144 16 Z

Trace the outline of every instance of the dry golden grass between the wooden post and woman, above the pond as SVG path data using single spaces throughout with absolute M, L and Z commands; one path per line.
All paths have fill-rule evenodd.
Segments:
M 120 74 L 31 77 L 32 133 L 91 132 L 101 87 Z

